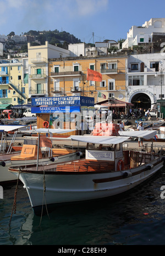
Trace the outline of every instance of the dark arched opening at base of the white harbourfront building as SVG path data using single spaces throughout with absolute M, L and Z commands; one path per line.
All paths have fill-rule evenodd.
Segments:
M 131 99 L 131 103 L 134 104 L 134 107 L 141 107 L 146 110 L 151 108 L 151 99 L 144 93 L 135 94 Z

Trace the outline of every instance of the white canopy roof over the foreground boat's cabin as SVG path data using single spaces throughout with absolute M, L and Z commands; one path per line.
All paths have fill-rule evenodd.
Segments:
M 86 143 L 96 143 L 96 144 L 119 144 L 123 143 L 125 140 L 129 139 L 129 137 L 121 137 L 121 136 L 85 136 L 85 135 L 71 135 L 70 138 L 72 140 L 86 142 Z

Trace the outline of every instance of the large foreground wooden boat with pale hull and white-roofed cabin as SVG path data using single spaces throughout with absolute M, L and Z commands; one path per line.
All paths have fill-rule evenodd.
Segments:
M 149 133 L 151 138 L 156 134 L 147 132 L 147 137 Z M 134 188 L 163 166 L 162 156 L 152 150 L 123 150 L 122 144 L 128 138 L 71 136 L 72 141 L 86 145 L 85 159 L 9 167 L 9 171 L 23 182 L 36 215 L 46 213 L 54 204 L 111 197 Z

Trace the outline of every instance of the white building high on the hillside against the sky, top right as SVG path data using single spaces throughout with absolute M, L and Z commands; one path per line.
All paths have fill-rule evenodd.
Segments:
M 127 39 L 122 43 L 122 48 L 129 48 L 138 43 L 150 43 L 155 32 L 165 32 L 165 18 L 152 18 L 142 26 L 132 26 L 127 33 Z

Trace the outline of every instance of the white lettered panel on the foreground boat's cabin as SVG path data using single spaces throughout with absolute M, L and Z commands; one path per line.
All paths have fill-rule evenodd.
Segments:
M 86 159 L 114 161 L 114 151 L 86 150 Z

